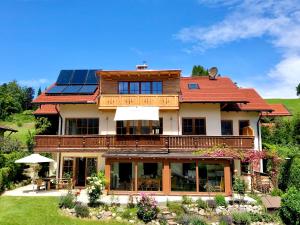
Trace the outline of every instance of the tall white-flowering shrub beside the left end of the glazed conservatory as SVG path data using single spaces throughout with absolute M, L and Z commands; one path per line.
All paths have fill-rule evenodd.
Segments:
M 105 188 L 106 180 L 103 172 L 99 172 L 97 176 L 91 176 L 87 178 L 88 186 L 87 193 L 89 196 L 90 205 L 95 205 L 97 200 L 102 195 L 102 191 Z

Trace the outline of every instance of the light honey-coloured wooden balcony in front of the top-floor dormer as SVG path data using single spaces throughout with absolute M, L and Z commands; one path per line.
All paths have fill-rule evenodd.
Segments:
M 160 109 L 179 109 L 178 95 L 101 95 L 99 109 L 118 106 L 158 106 Z

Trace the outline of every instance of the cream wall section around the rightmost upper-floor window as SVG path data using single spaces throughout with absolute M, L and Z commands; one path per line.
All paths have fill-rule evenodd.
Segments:
M 232 120 L 233 122 L 233 135 L 239 135 L 239 120 L 249 120 L 250 126 L 254 130 L 254 149 L 261 149 L 259 146 L 259 137 L 257 131 L 257 121 L 259 118 L 258 112 L 221 112 L 222 120 Z

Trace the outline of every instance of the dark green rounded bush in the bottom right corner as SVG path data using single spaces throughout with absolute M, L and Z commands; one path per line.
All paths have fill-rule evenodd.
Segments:
M 300 191 L 295 187 L 282 196 L 279 215 L 285 224 L 300 224 Z

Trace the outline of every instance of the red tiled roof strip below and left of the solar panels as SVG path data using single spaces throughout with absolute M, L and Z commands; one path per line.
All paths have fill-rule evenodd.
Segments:
M 52 84 L 47 90 L 52 88 L 54 85 L 55 84 Z M 99 95 L 99 88 L 97 88 L 95 93 L 92 95 L 46 95 L 45 93 L 47 92 L 47 90 L 40 94 L 32 102 L 39 104 L 96 103 Z

